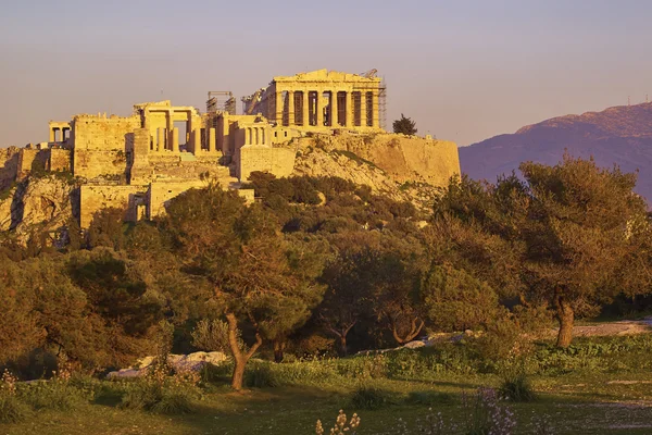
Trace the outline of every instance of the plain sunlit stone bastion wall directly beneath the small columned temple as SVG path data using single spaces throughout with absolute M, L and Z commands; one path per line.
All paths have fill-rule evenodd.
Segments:
M 289 148 L 244 146 L 236 152 L 234 159 L 236 175 L 241 182 L 247 181 L 254 171 L 287 177 L 294 170 L 294 150 Z

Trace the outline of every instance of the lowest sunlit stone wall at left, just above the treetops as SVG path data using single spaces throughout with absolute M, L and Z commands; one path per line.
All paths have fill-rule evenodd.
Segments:
M 95 213 L 110 207 L 123 209 L 125 221 L 137 221 L 143 212 L 145 190 L 142 186 L 82 186 L 79 225 L 88 228 Z

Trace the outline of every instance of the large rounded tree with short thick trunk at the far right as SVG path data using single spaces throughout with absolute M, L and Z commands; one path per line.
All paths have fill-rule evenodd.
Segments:
M 567 347 L 577 315 L 595 314 L 620 293 L 647 291 L 650 276 L 617 279 L 625 263 L 649 259 L 644 200 L 632 191 L 636 174 L 600 169 L 564 156 L 555 166 L 526 162 L 521 171 L 531 195 L 523 227 L 528 297 L 549 301 L 560 323 L 557 346 Z

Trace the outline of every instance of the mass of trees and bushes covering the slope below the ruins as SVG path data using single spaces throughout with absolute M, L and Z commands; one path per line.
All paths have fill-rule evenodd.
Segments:
M 577 347 L 572 336 L 577 318 L 607 306 L 647 308 L 652 238 L 635 176 L 570 157 L 522 172 L 493 185 L 452 179 L 430 213 L 337 177 L 254 173 L 251 206 L 211 185 L 152 222 L 106 209 L 82 236 L 71 222 L 61 249 L 7 235 L 0 366 L 57 378 L 61 364 L 92 374 L 171 350 L 230 355 L 204 381 L 170 377 L 156 357 L 146 380 L 110 387 L 150 412 L 192 412 L 198 385 L 227 371 L 235 389 L 499 375 L 505 397 L 527 401 L 528 376 L 649 366 L 638 357 L 649 337 Z M 532 341 L 554 319 L 556 346 Z M 438 333 L 449 338 L 424 350 L 373 352 Z M 336 358 L 360 350 L 371 353 Z M 624 351 L 631 368 L 613 358 Z M 397 402 L 373 389 L 354 397 Z M 8 419 L 29 412 L 29 400 L 0 399 Z

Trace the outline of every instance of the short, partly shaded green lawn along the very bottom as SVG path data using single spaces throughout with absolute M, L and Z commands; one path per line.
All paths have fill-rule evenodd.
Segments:
M 616 383 L 613 383 L 616 381 Z M 611 383 L 610 383 L 611 382 Z M 636 383 L 635 383 L 636 382 Z M 3 434 L 312 434 L 317 419 L 331 423 L 338 410 L 362 418 L 360 434 L 397 433 L 399 419 L 409 424 L 423 419 L 431 407 L 444 419 L 461 421 L 463 407 L 453 403 L 408 405 L 410 391 L 434 390 L 460 395 L 477 386 L 497 385 L 496 376 L 442 376 L 430 382 L 368 381 L 391 391 L 387 407 L 354 410 L 350 393 L 361 382 L 338 388 L 291 386 L 231 393 L 213 388 L 199 402 L 198 412 L 166 417 L 123 410 L 106 405 L 83 403 L 73 411 L 40 411 L 28 421 L 0 425 Z M 516 433 L 534 433 L 534 415 L 548 415 L 555 434 L 652 433 L 652 373 L 566 375 L 532 378 L 539 399 L 515 403 Z

